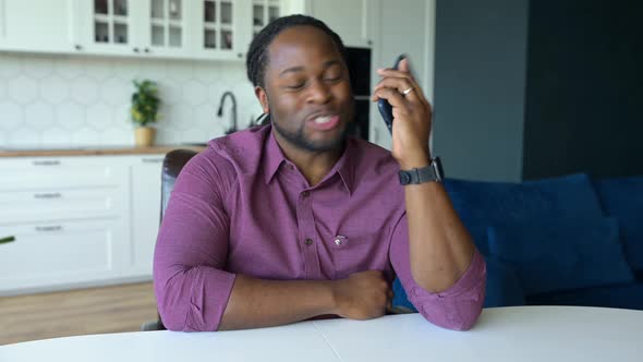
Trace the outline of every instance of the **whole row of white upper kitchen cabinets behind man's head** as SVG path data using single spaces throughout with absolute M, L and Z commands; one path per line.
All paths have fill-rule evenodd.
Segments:
M 371 47 L 368 4 L 368 0 L 0 0 L 0 50 L 241 61 L 264 26 L 292 13 L 323 20 L 348 46 Z

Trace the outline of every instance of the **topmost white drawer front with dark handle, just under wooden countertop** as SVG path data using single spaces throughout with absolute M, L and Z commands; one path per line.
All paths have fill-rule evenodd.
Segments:
M 118 188 L 0 191 L 0 225 L 118 217 L 124 207 L 124 193 Z

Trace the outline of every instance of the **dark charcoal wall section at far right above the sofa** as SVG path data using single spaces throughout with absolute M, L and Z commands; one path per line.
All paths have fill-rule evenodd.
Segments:
M 530 9 L 523 178 L 643 174 L 643 2 Z

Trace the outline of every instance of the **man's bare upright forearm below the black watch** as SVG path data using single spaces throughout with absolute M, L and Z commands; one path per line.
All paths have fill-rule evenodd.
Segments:
M 424 289 L 441 292 L 466 272 L 475 246 L 442 184 L 404 189 L 413 278 Z

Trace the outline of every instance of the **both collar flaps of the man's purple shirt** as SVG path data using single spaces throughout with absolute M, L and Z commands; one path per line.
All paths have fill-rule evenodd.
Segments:
M 354 141 L 351 138 L 347 140 L 345 145 L 347 147 L 343 154 L 331 169 L 330 173 L 339 173 L 349 195 L 352 195 L 354 191 L 354 169 L 356 167 L 354 154 L 356 149 Z M 281 164 L 287 161 L 283 152 L 275 138 L 275 129 L 272 126 L 270 126 L 270 134 L 264 146 L 264 155 L 266 157 L 264 162 L 264 176 L 265 182 L 268 184 L 275 177 L 275 173 L 279 170 Z

